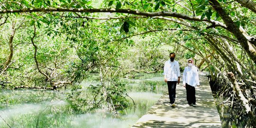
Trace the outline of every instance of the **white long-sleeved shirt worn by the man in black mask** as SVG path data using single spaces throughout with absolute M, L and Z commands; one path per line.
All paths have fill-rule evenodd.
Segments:
M 173 62 L 166 61 L 163 74 L 166 75 L 167 81 L 178 81 L 178 77 L 180 77 L 179 62 L 175 60 Z

